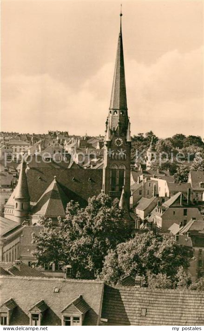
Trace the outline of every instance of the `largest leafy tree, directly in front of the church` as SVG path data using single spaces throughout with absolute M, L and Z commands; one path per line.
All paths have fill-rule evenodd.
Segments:
M 104 194 L 90 198 L 84 209 L 70 202 L 57 227 L 50 219 L 41 222 L 43 230 L 36 237 L 38 264 L 71 264 L 74 277 L 96 278 L 107 251 L 130 238 L 130 226 L 123 217 L 118 200 Z

